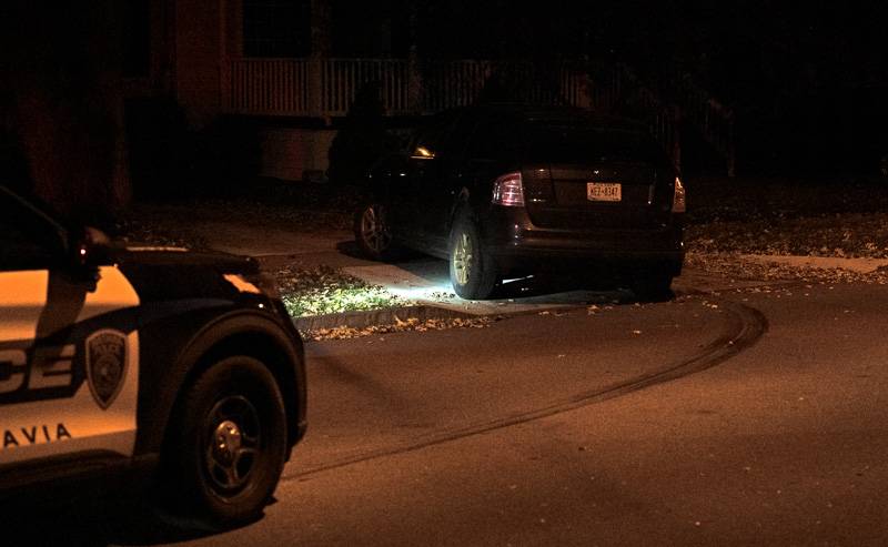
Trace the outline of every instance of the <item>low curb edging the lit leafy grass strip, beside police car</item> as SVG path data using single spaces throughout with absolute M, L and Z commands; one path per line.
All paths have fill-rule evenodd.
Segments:
M 389 307 L 385 310 L 371 310 L 369 312 L 346 312 L 331 313 L 326 315 L 312 315 L 306 317 L 295 317 L 293 325 L 300 331 L 317 331 L 321 328 L 364 328 L 375 325 L 393 325 L 398 321 L 417 318 L 427 320 L 470 320 L 478 318 L 482 315 L 457 312 L 445 307 L 436 306 L 404 306 Z

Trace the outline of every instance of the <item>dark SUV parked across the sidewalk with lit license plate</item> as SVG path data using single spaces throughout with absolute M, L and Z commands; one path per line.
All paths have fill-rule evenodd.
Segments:
M 615 273 L 640 297 L 682 271 L 685 191 L 643 125 L 573 108 L 485 105 L 433 117 L 369 173 L 359 247 L 450 261 L 456 294 L 504 277 Z

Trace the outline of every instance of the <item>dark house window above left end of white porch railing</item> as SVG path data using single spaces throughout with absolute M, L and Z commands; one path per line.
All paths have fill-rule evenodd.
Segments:
M 243 0 L 244 57 L 306 57 L 310 53 L 310 0 Z

